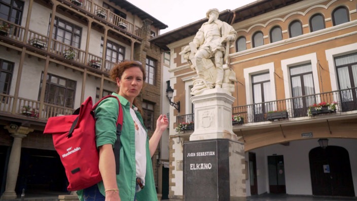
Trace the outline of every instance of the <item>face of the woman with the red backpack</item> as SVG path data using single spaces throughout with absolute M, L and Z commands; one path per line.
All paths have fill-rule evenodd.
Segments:
M 133 66 L 124 71 L 121 78 L 117 78 L 119 87 L 119 95 L 125 97 L 130 103 L 133 103 L 134 98 L 140 93 L 143 78 L 139 67 Z

